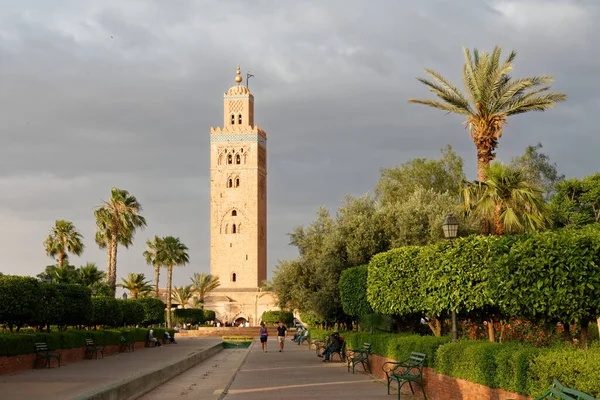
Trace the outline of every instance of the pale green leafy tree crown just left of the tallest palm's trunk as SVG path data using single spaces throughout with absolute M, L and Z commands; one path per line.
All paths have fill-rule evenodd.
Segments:
M 457 198 L 465 179 L 463 160 L 450 145 L 441 150 L 442 158 L 414 158 L 394 168 L 381 169 L 375 195 L 383 206 L 404 202 L 418 188 Z

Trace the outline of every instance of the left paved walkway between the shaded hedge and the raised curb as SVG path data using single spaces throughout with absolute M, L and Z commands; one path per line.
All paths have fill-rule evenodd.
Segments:
M 35 369 L 0 376 L 0 398 L 72 399 L 125 379 L 159 370 L 221 342 L 221 338 L 180 338 L 176 345 L 136 349 L 105 359 L 85 360 L 60 368 Z

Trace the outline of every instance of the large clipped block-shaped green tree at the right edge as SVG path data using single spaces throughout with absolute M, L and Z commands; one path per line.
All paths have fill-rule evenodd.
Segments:
M 600 230 L 559 229 L 511 243 L 490 271 L 492 296 L 510 315 L 579 322 L 582 342 L 600 315 Z

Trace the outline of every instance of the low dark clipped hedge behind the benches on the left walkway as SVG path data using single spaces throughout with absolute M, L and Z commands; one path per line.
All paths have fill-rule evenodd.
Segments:
M 154 337 L 162 338 L 164 328 L 154 329 Z M 175 333 L 169 329 L 169 334 Z M 144 342 L 148 337 L 148 329 L 114 329 L 114 330 L 72 330 L 67 332 L 37 332 L 19 334 L 0 334 L 0 357 L 29 354 L 35 352 L 35 343 L 45 342 L 52 350 L 72 349 L 85 346 L 85 339 L 93 339 L 100 345 L 117 345 L 121 343 L 121 336 L 130 342 Z

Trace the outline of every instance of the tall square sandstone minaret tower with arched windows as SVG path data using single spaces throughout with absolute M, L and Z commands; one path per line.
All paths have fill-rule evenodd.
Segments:
M 242 84 L 223 96 L 223 127 L 210 128 L 210 273 L 219 289 L 257 290 L 267 279 L 267 134 Z

